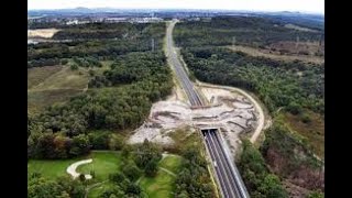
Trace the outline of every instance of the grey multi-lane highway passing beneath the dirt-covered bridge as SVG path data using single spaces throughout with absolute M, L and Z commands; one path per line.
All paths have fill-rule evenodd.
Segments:
M 205 103 L 199 97 L 193 82 L 189 80 L 185 68 L 178 59 L 174 46 L 173 30 L 176 23 L 177 21 L 173 20 L 167 26 L 166 54 L 168 62 L 175 70 L 176 76 L 182 84 L 182 88 L 185 90 L 190 101 L 190 105 L 193 107 L 201 107 Z M 234 166 L 234 162 L 232 162 L 227 154 L 224 144 L 222 144 L 222 140 L 219 138 L 217 131 L 217 129 L 202 130 L 202 135 L 205 138 L 206 146 L 210 154 L 211 161 L 213 162 L 212 166 L 216 172 L 216 178 L 219 183 L 221 195 L 224 198 L 249 198 L 250 196 L 246 191 L 241 175 Z

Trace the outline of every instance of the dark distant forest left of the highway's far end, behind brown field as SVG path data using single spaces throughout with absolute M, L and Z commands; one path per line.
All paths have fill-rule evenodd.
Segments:
M 53 41 L 28 46 L 28 68 L 48 66 L 72 57 L 114 59 L 130 52 L 162 50 L 164 23 L 74 25 L 55 33 Z M 68 41 L 67 41 L 68 40 Z M 72 40 L 72 41 L 70 41 Z

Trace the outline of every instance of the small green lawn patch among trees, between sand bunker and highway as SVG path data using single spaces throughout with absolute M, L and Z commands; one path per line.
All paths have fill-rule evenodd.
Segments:
M 160 162 L 160 167 L 168 169 L 177 175 L 182 163 L 182 157 L 177 155 L 167 155 Z M 142 177 L 140 185 L 148 198 L 172 198 L 176 177 L 163 169 L 158 169 L 155 177 Z

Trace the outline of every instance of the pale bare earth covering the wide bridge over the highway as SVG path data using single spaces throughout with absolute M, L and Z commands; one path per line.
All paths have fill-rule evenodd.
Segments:
M 134 131 L 129 143 L 142 143 L 147 139 L 160 144 L 173 144 L 169 133 L 176 129 L 210 127 L 221 129 L 222 135 L 234 154 L 240 133 L 249 134 L 254 131 L 255 141 L 263 129 L 264 116 L 253 105 L 250 96 L 202 84 L 198 89 L 204 92 L 210 105 L 194 109 L 188 103 L 176 99 L 180 92 L 177 89 L 167 100 L 153 105 L 148 119 Z

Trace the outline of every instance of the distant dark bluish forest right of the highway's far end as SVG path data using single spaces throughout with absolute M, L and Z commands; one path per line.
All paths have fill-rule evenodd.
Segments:
M 280 41 L 320 41 L 323 32 L 302 32 L 267 18 L 217 16 L 210 21 L 180 22 L 174 32 L 182 47 L 245 45 L 264 47 Z

